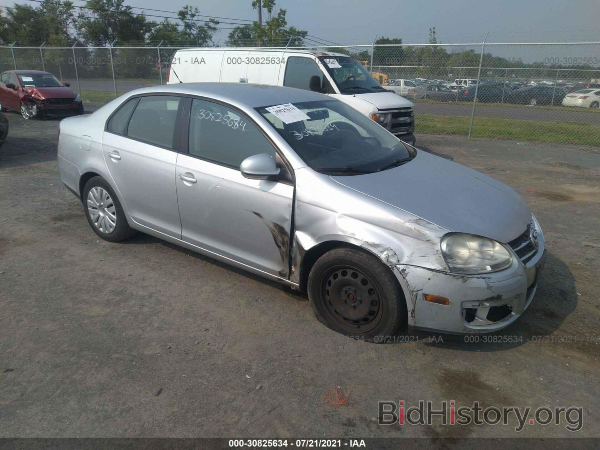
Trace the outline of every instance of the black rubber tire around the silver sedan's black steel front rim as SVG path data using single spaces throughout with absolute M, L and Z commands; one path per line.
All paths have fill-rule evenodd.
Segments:
M 362 271 L 376 284 L 383 308 L 382 317 L 375 328 L 368 332 L 348 331 L 329 319 L 329 311 L 321 301 L 321 281 L 323 274 L 334 266 L 348 265 Z M 370 342 L 383 342 L 385 337 L 394 335 L 398 327 L 406 321 L 406 301 L 404 294 L 388 266 L 379 258 L 366 251 L 355 248 L 336 248 L 321 256 L 314 263 L 308 275 L 308 299 L 314 314 L 328 328 Z

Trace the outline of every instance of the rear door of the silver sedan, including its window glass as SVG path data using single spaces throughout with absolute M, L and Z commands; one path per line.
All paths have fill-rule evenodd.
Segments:
M 102 137 L 106 167 L 131 218 L 175 238 L 181 238 L 175 136 L 184 103 L 172 94 L 131 98 L 109 118 Z

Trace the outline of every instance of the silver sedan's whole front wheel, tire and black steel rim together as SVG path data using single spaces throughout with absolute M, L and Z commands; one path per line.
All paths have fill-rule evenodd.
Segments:
M 388 266 L 366 251 L 336 248 L 308 275 L 314 314 L 334 331 L 383 342 L 404 323 L 406 302 Z

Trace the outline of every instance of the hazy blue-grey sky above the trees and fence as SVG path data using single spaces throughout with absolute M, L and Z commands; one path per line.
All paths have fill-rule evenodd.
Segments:
M 176 11 L 187 2 L 125 3 Z M 254 20 L 257 11 L 251 3 L 221 0 L 196 5 L 201 14 Z M 279 0 L 278 7 L 287 10 L 288 26 L 341 44 L 370 43 L 376 34 L 422 43 L 432 26 L 443 43 L 481 42 L 488 31 L 491 42 L 600 41 L 599 0 Z M 224 41 L 228 32 L 221 30 L 217 38 Z

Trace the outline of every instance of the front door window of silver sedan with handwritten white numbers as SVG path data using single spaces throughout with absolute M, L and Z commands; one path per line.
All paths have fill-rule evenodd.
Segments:
M 275 148 L 256 126 L 235 109 L 194 98 L 190 115 L 191 155 L 239 170 L 247 157 Z

